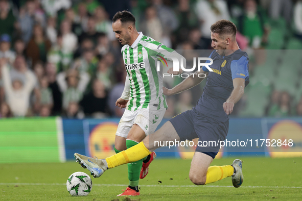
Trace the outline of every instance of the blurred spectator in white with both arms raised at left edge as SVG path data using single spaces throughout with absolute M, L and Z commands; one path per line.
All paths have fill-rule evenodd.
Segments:
M 30 94 L 35 86 L 34 74 L 23 68 L 25 80 L 11 77 L 5 61 L 0 64 L 7 103 L 14 116 L 25 116 L 29 112 Z

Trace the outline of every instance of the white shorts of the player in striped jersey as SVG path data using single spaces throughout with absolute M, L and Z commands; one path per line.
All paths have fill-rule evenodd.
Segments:
M 136 111 L 125 110 L 115 135 L 127 138 L 132 125 L 137 124 L 141 129 L 143 129 L 146 136 L 148 136 L 155 132 L 158 124 L 162 120 L 162 117 L 164 117 L 165 112 L 165 108 L 153 111 L 146 108 Z

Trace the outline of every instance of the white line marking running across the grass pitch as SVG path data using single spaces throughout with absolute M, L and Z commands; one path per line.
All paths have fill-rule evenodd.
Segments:
M 33 185 L 33 186 L 63 186 L 66 184 L 52 183 L 0 183 L 0 185 Z M 94 186 L 127 186 L 126 184 L 94 184 Z M 196 185 L 140 185 L 142 187 L 199 187 Z M 205 185 L 204 187 L 222 187 L 222 188 L 234 188 L 234 186 L 214 186 Z M 302 188 L 302 186 L 241 186 L 241 188 Z

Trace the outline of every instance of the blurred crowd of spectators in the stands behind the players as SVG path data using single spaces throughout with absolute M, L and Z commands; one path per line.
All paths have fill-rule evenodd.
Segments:
M 122 10 L 138 31 L 174 49 L 212 49 L 211 24 L 233 21 L 250 56 L 251 87 L 232 116 L 302 116 L 302 51 L 286 52 L 302 49 L 302 1 L 0 0 L 0 117 L 121 117 L 115 101 L 126 71 L 111 19 Z M 297 65 L 281 55 L 297 56 Z M 283 66 L 296 79 L 282 79 Z M 191 109 L 204 85 L 167 97 L 165 117 Z

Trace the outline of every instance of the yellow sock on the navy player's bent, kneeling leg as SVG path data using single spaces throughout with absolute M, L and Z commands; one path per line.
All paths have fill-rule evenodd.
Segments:
M 205 184 L 210 184 L 230 177 L 234 173 L 234 167 L 231 165 L 210 166 L 207 168 Z

